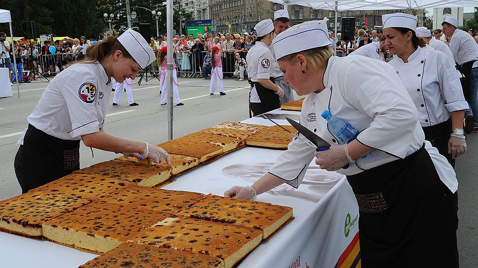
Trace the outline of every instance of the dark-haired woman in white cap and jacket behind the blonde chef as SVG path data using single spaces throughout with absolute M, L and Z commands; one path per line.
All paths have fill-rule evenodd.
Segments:
M 454 167 L 455 159 L 466 152 L 463 119 L 468 103 L 450 59 L 420 47 L 415 19 L 404 13 L 382 16 L 387 46 L 397 55 L 389 64 L 415 103 L 425 138 Z

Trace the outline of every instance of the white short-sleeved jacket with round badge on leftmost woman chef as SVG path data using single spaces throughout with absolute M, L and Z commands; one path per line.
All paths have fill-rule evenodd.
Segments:
M 110 82 L 98 62 L 72 65 L 50 81 L 27 121 L 60 139 L 80 140 L 81 135 L 96 133 L 105 126 Z

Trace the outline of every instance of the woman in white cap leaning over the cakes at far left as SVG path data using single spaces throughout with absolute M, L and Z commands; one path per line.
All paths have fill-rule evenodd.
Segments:
M 80 168 L 80 140 L 92 148 L 123 152 L 136 158 L 169 163 L 162 148 L 118 138 L 103 131 L 111 95 L 111 77 L 121 83 L 156 60 L 141 34 L 128 29 L 119 37 L 86 50 L 82 62 L 50 81 L 27 118 L 20 137 L 15 173 L 22 192 L 63 177 Z

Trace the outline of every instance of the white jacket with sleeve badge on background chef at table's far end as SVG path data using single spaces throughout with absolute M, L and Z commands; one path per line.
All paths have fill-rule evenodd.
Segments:
M 272 55 L 269 46 L 264 42 L 256 41 L 245 57 L 247 62 L 247 75 L 252 82 L 258 82 L 257 79 L 269 79 L 274 77 L 276 71 L 276 60 Z M 261 102 L 254 87 L 251 90 L 250 102 Z

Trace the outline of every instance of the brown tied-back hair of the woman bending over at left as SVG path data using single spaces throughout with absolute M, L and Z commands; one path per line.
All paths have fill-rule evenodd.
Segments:
M 99 42 L 94 46 L 89 46 L 86 49 L 86 57 L 80 63 L 101 62 L 103 59 L 115 53 L 117 50 L 120 50 L 123 56 L 131 59 L 133 58 L 120 43 L 120 41 L 118 41 L 118 37 L 109 36 L 106 41 Z

